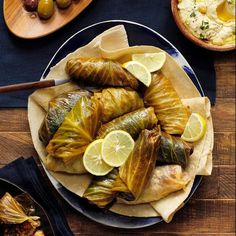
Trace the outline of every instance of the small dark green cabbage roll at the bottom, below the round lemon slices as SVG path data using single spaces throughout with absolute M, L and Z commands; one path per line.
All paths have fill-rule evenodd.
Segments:
M 94 177 L 83 197 L 100 208 L 106 207 L 115 198 L 116 193 L 112 190 L 112 187 L 117 176 L 118 169 L 114 168 L 105 176 Z

